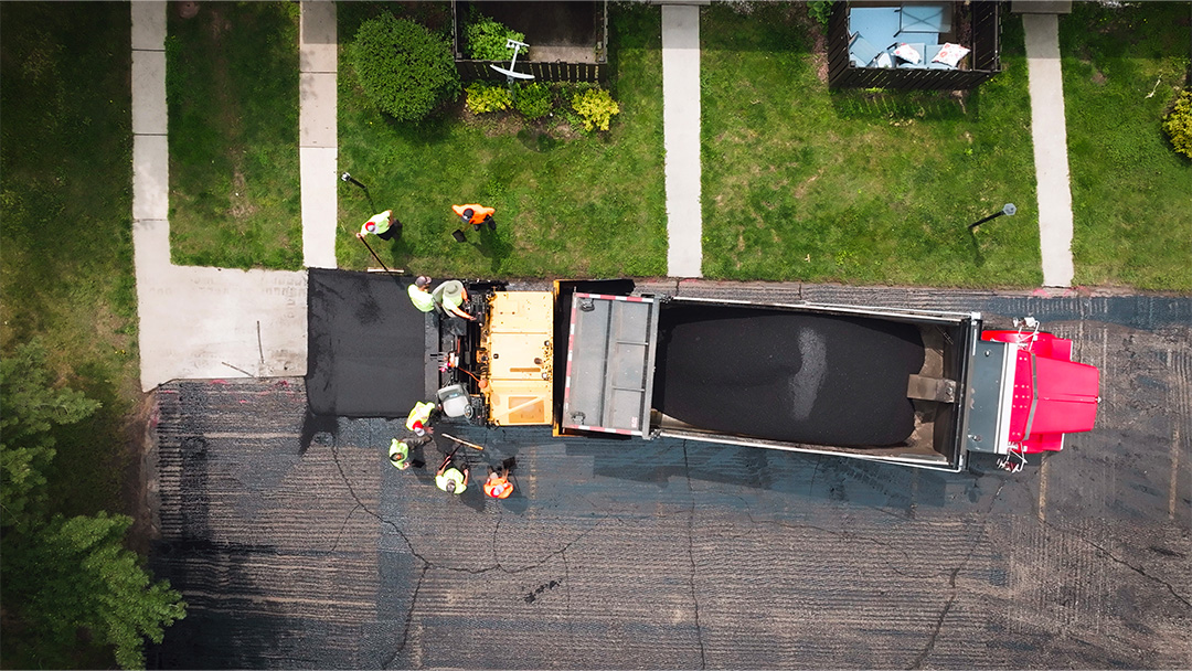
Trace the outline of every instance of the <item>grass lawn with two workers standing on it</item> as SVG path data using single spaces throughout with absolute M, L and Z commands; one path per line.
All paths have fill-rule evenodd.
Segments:
M 340 169 L 368 186 L 377 211 L 392 209 L 404 223 L 401 240 L 370 236 L 386 266 L 436 277 L 665 274 L 658 7 L 609 7 L 610 88 L 621 113 L 607 133 L 558 138 L 513 116 L 466 117 L 462 97 L 417 126 L 386 120 L 347 62 L 365 7 L 352 5 L 339 19 Z M 468 229 L 457 243 L 451 206 L 467 203 L 496 207 L 497 230 Z M 339 205 L 340 266 L 377 266 L 355 238 L 374 213 L 364 192 L 341 182 Z

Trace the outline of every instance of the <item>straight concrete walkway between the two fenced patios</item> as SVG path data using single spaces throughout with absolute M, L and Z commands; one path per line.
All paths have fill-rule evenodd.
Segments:
M 666 145 L 666 274 L 702 275 L 700 206 L 700 8 L 664 5 L 663 132 Z

